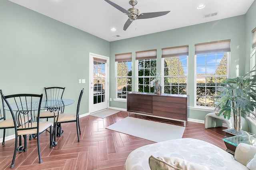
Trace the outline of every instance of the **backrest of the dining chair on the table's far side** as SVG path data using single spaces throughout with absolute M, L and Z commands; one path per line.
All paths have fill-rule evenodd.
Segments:
M 46 100 L 62 99 L 65 87 L 45 87 Z

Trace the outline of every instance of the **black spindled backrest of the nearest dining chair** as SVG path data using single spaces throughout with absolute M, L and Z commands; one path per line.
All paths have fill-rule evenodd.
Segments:
M 4 102 L 8 106 L 12 119 L 14 121 L 15 129 L 36 129 L 39 127 L 40 108 L 43 94 L 13 94 L 4 96 Z M 32 118 L 37 114 L 37 127 L 32 126 Z M 17 129 L 20 127 L 19 129 Z

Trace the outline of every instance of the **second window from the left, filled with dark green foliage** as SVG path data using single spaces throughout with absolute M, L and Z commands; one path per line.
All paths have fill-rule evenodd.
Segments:
M 138 92 L 154 93 L 150 82 L 154 79 L 152 71 L 156 72 L 156 50 L 136 52 L 138 65 Z

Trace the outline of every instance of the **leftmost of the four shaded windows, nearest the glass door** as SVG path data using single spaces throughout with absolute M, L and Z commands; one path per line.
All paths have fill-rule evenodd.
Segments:
M 127 92 L 132 91 L 132 53 L 116 54 L 117 96 L 126 99 Z

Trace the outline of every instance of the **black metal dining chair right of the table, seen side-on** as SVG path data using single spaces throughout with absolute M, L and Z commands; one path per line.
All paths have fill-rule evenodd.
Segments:
M 79 108 L 80 108 L 80 102 L 82 99 L 83 92 L 84 92 L 84 89 L 81 90 L 79 98 L 78 98 L 76 114 L 62 113 L 58 117 L 58 124 L 76 122 L 76 133 L 77 133 L 78 142 L 80 141 L 79 134 L 81 134 L 80 123 L 79 123 Z M 61 126 L 59 125 L 57 127 L 59 128 Z M 78 134 L 78 129 L 79 129 L 79 134 Z

